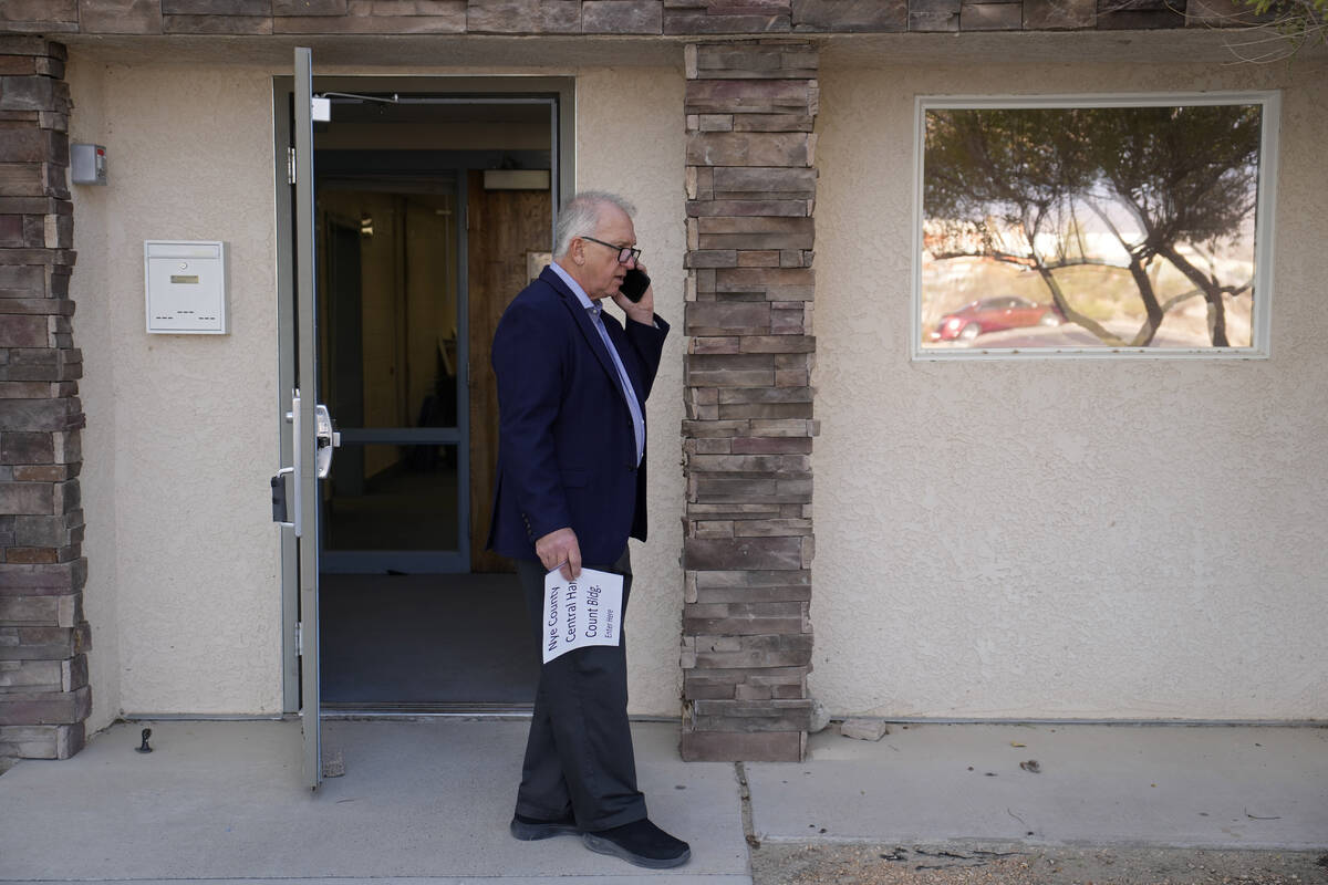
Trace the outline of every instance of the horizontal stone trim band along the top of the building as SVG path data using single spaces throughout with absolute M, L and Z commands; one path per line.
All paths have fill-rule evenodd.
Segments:
M 1240 27 L 1232 0 L 7 0 L 0 33 L 777 36 Z

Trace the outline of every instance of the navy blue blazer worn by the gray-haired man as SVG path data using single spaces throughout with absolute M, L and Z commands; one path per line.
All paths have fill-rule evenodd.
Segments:
M 668 324 L 604 328 L 645 414 Z M 498 377 L 498 476 L 487 547 L 538 560 L 535 540 L 576 532 L 582 561 L 611 565 L 627 537 L 645 540 L 645 458 L 622 381 L 590 312 L 544 268 L 513 300 L 494 334 Z

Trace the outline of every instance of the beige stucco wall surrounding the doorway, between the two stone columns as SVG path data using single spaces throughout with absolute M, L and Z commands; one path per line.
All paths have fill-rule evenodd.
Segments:
M 290 72 L 72 57 L 73 141 L 105 145 L 110 178 L 74 188 L 89 724 L 122 711 L 280 713 L 280 556 L 267 503 L 279 462 L 271 77 Z M 636 202 L 659 312 L 679 326 L 651 398 L 652 540 L 633 549 L 629 625 L 632 711 L 676 715 L 681 57 L 677 69 L 586 72 L 578 92 L 578 183 Z M 629 109 L 612 113 L 624 94 Z M 143 332 L 145 239 L 227 241 L 230 334 Z

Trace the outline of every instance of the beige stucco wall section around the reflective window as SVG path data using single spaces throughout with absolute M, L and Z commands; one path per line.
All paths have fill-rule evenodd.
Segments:
M 831 713 L 1328 716 L 1324 73 L 823 60 L 811 690 Z M 1270 358 L 910 360 L 916 96 L 1279 88 Z

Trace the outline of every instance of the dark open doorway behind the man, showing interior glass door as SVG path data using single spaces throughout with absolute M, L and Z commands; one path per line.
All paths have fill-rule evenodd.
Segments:
M 550 257 L 571 89 L 457 86 L 315 80 L 332 97 L 313 227 L 319 395 L 341 434 L 320 502 L 333 713 L 527 711 L 539 678 L 511 564 L 483 549 L 489 350 Z

